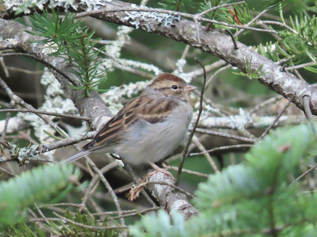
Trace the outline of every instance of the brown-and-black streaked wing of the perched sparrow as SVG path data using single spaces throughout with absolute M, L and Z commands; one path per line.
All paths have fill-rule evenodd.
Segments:
M 159 123 L 165 119 L 177 103 L 166 98 L 157 99 L 158 101 L 155 101 L 155 99 L 148 100 L 148 98 L 145 100 L 145 97 L 139 96 L 123 106 L 112 119 L 100 128 L 94 139 L 86 144 L 83 149 L 94 150 L 101 145 L 119 141 L 119 135 L 126 131 L 127 126 L 139 118 L 152 124 Z M 147 103 L 145 104 L 144 101 L 147 101 Z

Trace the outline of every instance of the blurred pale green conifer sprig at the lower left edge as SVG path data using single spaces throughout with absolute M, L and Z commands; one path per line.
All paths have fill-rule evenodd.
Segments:
M 59 197 L 66 194 L 78 178 L 79 170 L 71 166 L 47 165 L 0 182 L 0 229 L 3 225 L 21 221 L 26 209 L 35 202 L 52 201 L 56 192 Z

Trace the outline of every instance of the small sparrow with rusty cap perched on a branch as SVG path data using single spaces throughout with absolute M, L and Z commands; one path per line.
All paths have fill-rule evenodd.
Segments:
M 98 151 L 115 153 L 134 166 L 147 162 L 157 172 L 171 175 L 154 163 L 184 140 L 193 114 L 190 92 L 196 88 L 171 73 L 159 75 L 103 125 L 91 142 L 59 165 Z

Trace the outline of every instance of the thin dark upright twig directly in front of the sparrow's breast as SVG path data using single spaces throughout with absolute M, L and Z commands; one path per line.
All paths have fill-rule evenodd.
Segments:
M 188 137 L 186 146 L 185 146 L 185 148 L 184 148 L 184 150 L 182 152 L 182 157 L 181 157 L 180 162 L 179 162 L 177 176 L 176 176 L 176 181 L 175 181 L 175 185 L 176 186 L 178 186 L 180 174 L 182 173 L 182 168 L 183 168 L 183 165 L 184 165 L 185 156 L 187 155 L 187 152 L 188 152 L 189 144 L 191 143 L 191 139 L 194 136 L 194 133 L 195 133 L 195 130 L 196 130 L 196 127 L 197 127 L 201 112 L 203 111 L 203 99 L 204 99 L 203 95 L 204 95 L 204 89 L 205 89 L 205 84 L 206 84 L 206 70 L 204 68 L 204 65 L 199 60 L 197 60 L 197 61 L 198 61 L 198 63 L 200 64 L 200 66 L 204 70 L 204 82 L 203 82 L 203 85 L 202 85 L 202 88 L 201 88 L 200 99 L 199 99 L 199 110 L 198 110 L 198 115 L 197 115 L 197 118 L 196 118 L 196 122 L 193 125 L 193 128 L 192 128 L 191 133 L 190 133 L 190 135 Z

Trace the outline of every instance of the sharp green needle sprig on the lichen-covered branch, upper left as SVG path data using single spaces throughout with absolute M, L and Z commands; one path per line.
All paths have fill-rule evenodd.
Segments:
M 98 85 L 106 80 L 105 70 L 100 70 L 103 60 L 100 59 L 100 52 L 104 47 L 96 49 L 100 39 L 93 39 L 94 31 L 88 32 L 81 20 L 75 21 L 76 14 L 66 13 L 64 18 L 59 17 L 59 12 L 52 9 L 52 20 L 47 10 L 43 15 L 34 13 L 31 18 L 32 31 L 27 31 L 44 40 L 35 41 L 46 44 L 53 52 L 52 56 L 65 59 L 69 65 L 75 67 L 71 70 L 76 75 L 80 85 L 69 85 L 72 89 L 81 89 L 82 96 L 89 96 L 89 91 L 105 91 L 98 89 Z

